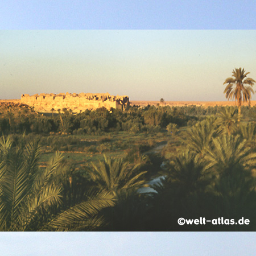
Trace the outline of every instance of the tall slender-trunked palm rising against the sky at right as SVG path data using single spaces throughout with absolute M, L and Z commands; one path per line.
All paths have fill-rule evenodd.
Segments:
M 254 79 L 247 77 L 250 72 L 245 72 L 245 69 L 236 68 L 233 69 L 232 77 L 229 77 L 225 80 L 223 84 L 228 84 L 224 90 L 226 93 L 226 98 L 234 98 L 238 103 L 238 122 L 240 122 L 241 115 L 241 105 L 243 102 L 248 102 L 250 106 L 251 93 L 254 93 L 251 88 L 256 82 Z

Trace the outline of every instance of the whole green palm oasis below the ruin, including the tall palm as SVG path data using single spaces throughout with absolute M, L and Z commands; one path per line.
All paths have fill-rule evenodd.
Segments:
M 1 231 L 256 230 L 255 81 L 248 74 L 234 69 L 224 82 L 237 107 L 41 115 L 1 106 Z M 75 151 L 88 160 L 70 160 Z M 150 185 L 155 177 L 161 182 Z M 250 225 L 179 226 L 180 217 L 243 217 Z

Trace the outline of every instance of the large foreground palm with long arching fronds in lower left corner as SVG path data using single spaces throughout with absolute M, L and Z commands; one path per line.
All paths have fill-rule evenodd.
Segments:
M 88 192 L 87 200 L 63 204 L 68 168 L 59 152 L 46 168 L 39 168 L 39 140 L 14 145 L 0 139 L 0 230 L 91 230 L 104 223 L 100 210 L 114 205 L 105 191 Z

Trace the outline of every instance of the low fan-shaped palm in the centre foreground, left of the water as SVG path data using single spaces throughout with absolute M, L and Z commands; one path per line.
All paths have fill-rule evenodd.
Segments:
M 143 175 L 146 171 L 138 170 L 140 164 L 130 166 L 122 158 L 107 158 L 98 164 L 92 163 L 88 171 L 90 179 L 97 189 L 105 189 L 115 198 L 115 205 L 103 211 L 108 222 L 107 230 L 138 230 L 146 220 L 144 195 L 138 189 L 145 185 Z M 143 220 L 141 220 L 143 216 Z

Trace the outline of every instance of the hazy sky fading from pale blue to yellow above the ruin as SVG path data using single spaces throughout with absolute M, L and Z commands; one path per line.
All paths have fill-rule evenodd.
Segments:
M 223 82 L 234 68 L 256 79 L 255 44 L 256 30 L 1 30 L 0 97 L 225 100 Z

